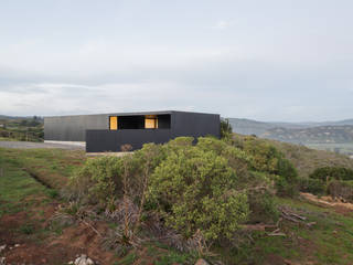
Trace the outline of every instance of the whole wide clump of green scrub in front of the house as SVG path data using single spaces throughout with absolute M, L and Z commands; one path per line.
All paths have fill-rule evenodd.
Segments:
M 124 205 L 133 203 L 133 221 L 121 218 L 125 236 L 154 214 L 185 240 L 195 234 L 205 242 L 232 240 L 240 224 L 275 222 L 274 194 L 297 190 L 291 163 L 276 148 L 256 146 L 212 137 L 147 144 L 120 158 L 87 160 L 71 179 L 71 194 L 122 215 L 128 214 Z

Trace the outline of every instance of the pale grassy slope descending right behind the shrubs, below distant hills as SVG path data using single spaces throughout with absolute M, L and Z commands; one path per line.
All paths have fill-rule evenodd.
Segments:
M 244 140 L 248 136 L 234 134 L 236 139 Z M 353 169 L 353 159 L 347 156 L 330 151 L 313 150 L 304 146 L 298 146 L 276 140 L 260 139 L 269 142 L 285 153 L 297 168 L 300 177 L 308 177 L 314 169 L 328 166 L 339 166 Z

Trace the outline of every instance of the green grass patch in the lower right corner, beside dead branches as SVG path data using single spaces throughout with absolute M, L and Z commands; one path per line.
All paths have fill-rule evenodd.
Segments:
M 268 236 L 264 232 L 253 232 L 252 241 L 234 248 L 218 248 L 227 264 L 270 264 L 269 255 L 295 261 L 298 264 L 351 264 L 353 261 L 353 213 L 342 215 L 333 209 L 320 208 L 308 202 L 278 199 L 307 222 L 315 222 L 312 227 L 289 221 L 281 222 L 281 232 L 287 236 Z

